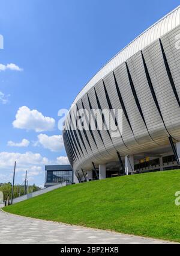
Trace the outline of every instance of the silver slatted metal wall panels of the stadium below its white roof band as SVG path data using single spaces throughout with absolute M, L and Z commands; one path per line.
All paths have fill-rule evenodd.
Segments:
M 169 14 L 168 20 L 169 22 L 171 20 L 171 24 L 173 20 L 176 20 L 174 15 L 176 13 L 177 17 L 177 12 L 179 12 L 179 8 Z M 174 22 L 173 24 L 176 23 Z M 162 26 L 162 24 L 161 26 L 159 24 L 158 28 L 162 30 Z M 172 28 L 169 27 L 167 21 L 166 26 L 169 30 Z M 175 37 L 180 34 L 180 25 L 175 26 L 168 33 L 166 33 L 167 28 L 165 29 L 165 27 L 163 31 L 164 34 L 160 37 L 161 43 L 167 63 L 169 64 L 176 92 L 180 98 L 180 49 L 175 47 Z M 133 95 L 130 77 L 128 76 L 127 66 L 124 61 L 119 66 L 116 66 L 112 70 L 113 72 L 107 73 L 103 80 L 101 77 L 76 102 L 79 109 L 82 108 L 83 104 L 85 109 L 90 111 L 90 104 L 92 109 L 98 108 L 98 98 L 102 109 L 109 108 L 104 90 L 105 86 L 112 108 L 121 109 L 122 102 L 119 99 L 118 88 L 127 113 L 127 116 L 125 116 L 125 112 L 123 114 L 123 133 L 121 137 L 110 138 L 107 131 L 96 130 L 92 132 L 86 131 L 86 133 L 84 131 L 68 131 L 70 114 L 72 117 L 73 113 L 77 110 L 76 105 L 68 113 L 68 117 L 65 120 L 67 136 L 64 142 L 65 147 L 68 148 L 68 158 L 74 170 L 91 170 L 92 162 L 98 165 L 117 161 L 117 151 L 124 156 L 162 148 L 169 145 L 169 135 L 180 141 L 179 104 L 175 97 L 172 83 L 170 83 L 159 38 L 143 48 L 142 51 L 140 50 L 126 60 L 139 105 L 137 105 Z M 143 63 L 142 56 L 145 63 Z M 149 85 L 150 82 L 147 78 L 145 64 L 157 102 L 155 102 Z M 117 84 L 115 83 L 115 78 Z M 97 98 L 95 93 L 97 93 Z M 140 113 L 139 107 L 142 113 Z

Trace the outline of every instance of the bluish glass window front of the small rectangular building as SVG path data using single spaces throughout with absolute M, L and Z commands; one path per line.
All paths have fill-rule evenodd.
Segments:
M 47 183 L 73 183 L 72 170 L 50 170 L 47 171 Z

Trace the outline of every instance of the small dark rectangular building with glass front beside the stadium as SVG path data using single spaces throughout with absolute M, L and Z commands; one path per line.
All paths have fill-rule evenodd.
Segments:
M 54 186 L 57 183 L 74 183 L 74 172 L 70 165 L 45 166 L 45 187 Z

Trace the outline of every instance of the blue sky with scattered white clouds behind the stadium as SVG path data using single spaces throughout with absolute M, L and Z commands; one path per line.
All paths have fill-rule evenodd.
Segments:
M 44 164 L 66 163 L 58 110 L 70 108 L 98 69 L 178 5 L 176 0 L 0 1 L 0 183 L 11 181 L 14 160 L 16 183 L 23 183 L 28 169 L 29 182 L 37 185 L 44 183 Z

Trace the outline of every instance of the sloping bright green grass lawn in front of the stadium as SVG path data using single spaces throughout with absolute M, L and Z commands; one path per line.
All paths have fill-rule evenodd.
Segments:
M 5 207 L 9 213 L 180 242 L 180 170 L 77 184 Z

